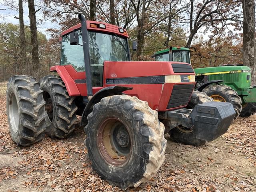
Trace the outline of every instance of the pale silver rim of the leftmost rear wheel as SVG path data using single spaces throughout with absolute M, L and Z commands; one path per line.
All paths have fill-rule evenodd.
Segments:
M 18 103 L 14 93 L 12 92 L 9 97 L 9 118 L 11 123 L 11 129 L 13 132 L 18 132 L 20 115 L 18 112 Z

